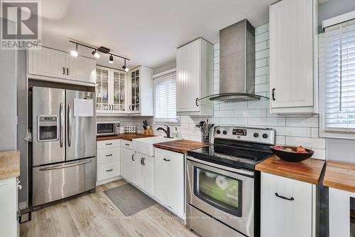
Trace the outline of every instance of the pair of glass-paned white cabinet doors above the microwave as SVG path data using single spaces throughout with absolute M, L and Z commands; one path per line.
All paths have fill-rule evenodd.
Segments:
M 96 72 L 97 113 L 125 113 L 126 72 L 100 66 Z

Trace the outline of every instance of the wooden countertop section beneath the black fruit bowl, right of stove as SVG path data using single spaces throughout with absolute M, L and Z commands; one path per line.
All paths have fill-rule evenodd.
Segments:
M 319 184 L 324 160 L 306 159 L 303 162 L 285 162 L 275 155 L 256 164 L 255 169 L 268 174 Z

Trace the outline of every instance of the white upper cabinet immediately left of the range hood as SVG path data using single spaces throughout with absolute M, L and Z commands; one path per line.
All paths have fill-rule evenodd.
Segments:
M 213 103 L 196 100 L 213 93 L 213 45 L 198 38 L 178 48 L 176 104 L 178 115 L 213 115 Z

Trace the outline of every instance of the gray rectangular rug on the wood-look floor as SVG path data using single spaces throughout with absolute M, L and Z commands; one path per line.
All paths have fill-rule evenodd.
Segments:
M 124 184 L 113 189 L 107 189 L 104 193 L 122 211 L 124 216 L 132 216 L 156 203 L 131 184 Z

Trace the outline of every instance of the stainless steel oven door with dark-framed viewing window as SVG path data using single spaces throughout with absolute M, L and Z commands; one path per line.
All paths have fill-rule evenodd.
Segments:
M 253 236 L 254 172 L 187 157 L 187 204 Z M 190 218 L 190 216 L 187 216 Z

